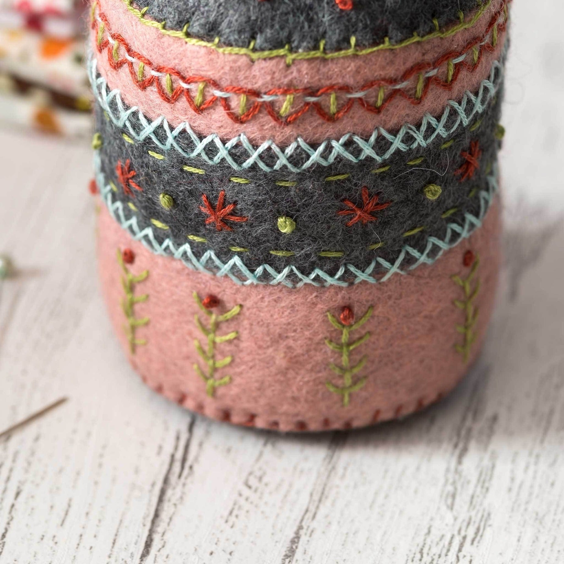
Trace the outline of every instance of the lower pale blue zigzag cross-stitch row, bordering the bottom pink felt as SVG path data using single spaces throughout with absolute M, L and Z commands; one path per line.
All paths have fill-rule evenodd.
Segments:
M 320 268 L 315 268 L 311 274 L 303 274 L 293 265 L 277 272 L 270 265 L 259 266 L 254 272 L 245 266 L 239 255 L 234 255 L 227 263 L 223 263 L 213 250 L 207 250 L 200 258 L 192 252 L 189 243 L 182 246 L 174 245 L 170 239 L 166 239 L 162 244 L 158 243 L 153 233 L 152 227 L 139 229 L 137 218 L 131 215 L 131 210 L 125 208 L 122 202 L 114 200 L 112 187 L 106 182 L 100 166 L 99 152 L 94 153 L 94 168 L 96 171 L 96 181 L 100 188 L 100 194 L 112 217 L 133 236 L 135 240 L 141 241 L 153 253 L 172 256 L 182 260 L 182 262 L 200 272 L 215 274 L 216 276 L 229 276 L 236 284 L 284 284 L 290 288 L 300 288 L 304 284 L 314 286 L 349 286 L 358 284 L 362 281 L 371 283 L 384 282 L 394 274 L 406 274 L 417 268 L 419 265 L 433 264 L 446 250 L 452 249 L 462 240 L 466 239 L 474 230 L 481 227 L 483 218 L 490 208 L 493 197 L 497 192 L 497 165 L 493 166 L 492 175 L 487 177 L 488 187 L 478 193 L 480 210 L 477 216 L 466 212 L 464 214 L 464 225 L 455 222 L 447 223 L 447 231 L 444 239 L 437 237 L 427 237 L 425 249 L 420 252 L 411 245 L 404 245 L 401 252 L 392 264 L 383 258 L 374 258 L 365 270 L 359 270 L 351 264 L 343 265 L 334 276 L 327 274 Z M 129 214 L 127 217 L 126 214 Z M 402 263 L 406 257 L 413 257 L 416 262 L 402 270 Z M 209 270 L 209 267 L 213 270 Z M 376 270 L 378 272 L 376 272 Z M 347 280 L 342 280 L 343 278 Z M 296 281 L 297 280 L 297 281 Z

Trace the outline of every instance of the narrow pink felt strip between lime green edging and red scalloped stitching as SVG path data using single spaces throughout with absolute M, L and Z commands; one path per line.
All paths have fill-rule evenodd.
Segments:
M 93 8 L 95 25 L 97 18 L 103 15 L 114 36 L 124 38 L 131 50 L 143 54 L 153 64 L 174 68 L 184 77 L 210 77 L 222 85 L 241 85 L 263 92 L 276 87 L 320 88 L 341 84 L 343 78 L 349 86 L 358 89 L 370 80 L 387 78 L 387 73 L 379 74 L 380 68 L 395 68 L 400 77 L 414 64 L 434 61 L 442 53 L 460 51 L 469 42 L 483 37 L 492 19 L 503 14 L 506 6 L 506 0 L 492 0 L 472 27 L 448 37 L 362 56 L 296 60 L 290 66 L 284 58 L 253 61 L 248 56 L 188 45 L 182 39 L 163 35 L 159 29 L 140 23 L 121 0 L 96 0 Z M 310 76 L 324 77 L 324 82 L 311 83 Z M 242 79 L 244 84 L 241 84 Z

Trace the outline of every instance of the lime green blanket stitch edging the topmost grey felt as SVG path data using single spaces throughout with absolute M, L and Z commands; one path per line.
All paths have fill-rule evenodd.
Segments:
M 429 41 L 429 39 L 435 39 L 437 37 L 442 37 L 442 38 L 451 37 L 461 32 L 464 29 L 472 28 L 478 22 L 478 20 L 481 19 L 481 17 L 486 13 L 488 8 L 492 4 L 492 0 L 488 0 L 487 2 L 484 2 L 482 6 L 478 8 L 478 10 L 469 20 L 461 21 L 459 24 L 453 26 L 452 28 L 448 28 L 443 31 L 435 29 L 434 32 L 428 33 L 425 36 L 419 36 L 417 33 L 413 33 L 411 37 L 408 37 L 407 39 L 404 39 L 404 41 L 401 41 L 399 43 L 390 43 L 390 39 L 386 37 L 384 38 L 383 43 L 380 43 L 379 45 L 373 45 L 372 47 L 365 47 L 364 49 L 357 49 L 356 37 L 352 36 L 350 39 L 351 41 L 350 49 L 326 53 L 324 52 L 324 47 L 325 47 L 324 40 L 320 41 L 318 50 L 301 51 L 301 52 L 300 51 L 292 52 L 289 46 L 285 46 L 283 49 L 254 51 L 253 50 L 254 43 L 251 43 L 249 47 L 221 46 L 219 45 L 219 37 L 216 37 L 214 41 L 204 41 L 204 39 L 198 39 L 197 37 L 190 37 L 187 34 L 188 24 L 184 25 L 184 28 L 182 30 L 166 29 L 164 21 L 160 22 L 155 20 L 149 20 L 145 17 L 147 12 L 146 8 L 144 8 L 143 10 L 138 10 L 138 8 L 135 8 L 133 6 L 133 0 L 123 0 L 123 2 L 125 3 L 127 10 L 129 10 L 131 14 L 137 17 L 143 25 L 148 25 L 149 27 L 159 29 L 161 33 L 167 36 L 184 39 L 184 41 L 188 43 L 188 45 L 209 47 L 210 49 L 214 49 L 215 51 L 222 53 L 224 55 L 246 55 L 253 61 L 258 59 L 272 59 L 276 57 L 284 57 L 286 59 L 287 65 L 291 65 L 293 61 L 299 59 L 317 59 L 317 58 L 337 59 L 341 57 L 348 57 L 351 55 L 369 55 L 370 53 L 376 51 L 401 49 L 402 47 L 407 47 L 408 45 L 412 45 L 413 43 L 421 43 L 424 41 Z M 504 2 L 504 7 L 505 5 L 506 2 Z M 94 6 L 96 6 L 96 4 Z

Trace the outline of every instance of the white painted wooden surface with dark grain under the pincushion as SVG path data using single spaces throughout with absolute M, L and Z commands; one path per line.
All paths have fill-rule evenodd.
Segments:
M 552 5 L 549 8 L 549 5 Z M 98 293 L 90 149 L 0 133 L 0 562 L 564 562 L 564 8 L 513 5 L 506 265 L 474 371 L 438 406 L 316 436 L 147 389 Z M 547 19 L 547 13 L 550 17 Z

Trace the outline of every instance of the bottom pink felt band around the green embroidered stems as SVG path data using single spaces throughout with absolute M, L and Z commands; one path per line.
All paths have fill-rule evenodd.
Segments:
M 422 265 L 409 275 L 396 274 L 381 284 L 347 288 L 240 286 L 197 273 L 133 241 L 105 206 L 98 233 L 100 277 L 112 324 L 143 380 L 208 417 L 283 431 L 371 425 L 406 415 L 448 393 L 482 346 L 500 263 L 499 201 L 482 228 L 434 265 Z M 143 320 L 135 331 L 139 345 L 134 354 L 124 332 L 124 272 L 116 258 L 117 250 L 129 253 L 126 249 L 133 252 L 129 255 L 133 263 L 125 265 L 131 275 L 143 278 L 148 271 L 133 288 L 134 296 L 147 296 L 133 305 L 134 318 Z M 465 342 L 460 328 L 472 323 L 468 310 L 455 303 L 464 301 L 465 293 L 453 276 L 465 280 L 476 257 L 479 263 L 469 287 L 473 290 L 479 280 L 472 301 L 477 308 L 475 341 L 464 359 L 455 345 Z M 215 345 L 216 359 L 232 355 L 232 361 L 217 369 L 215 378 L 229 375 L 231 380 L 217 387 L 213 397 L 206 395 L 205 382 L 193 368 L 195 364 L 206 368 L 195 341 L 207 346 L 195 316 L 209 326 L 194 292 L 201 299 L 219 298 L 214 311 L 221 314 L 242 305 L 217 331 L 238 333 Z M 338 320 L 344 306 L 350 307 L 357 321 L 373 307 L 368 321 L 351 332 L 350 342 L 370 334 L 350 353 L 351 366 L 366 355 L 364 367 L 354 375 L 354 381 L 365 378 L 365 384 L 351 393 L 346 407 L 341 396 L 327 387 L 327 382 L 342 386 L 343 380 L 330 368 L 330 363 L 342 366 L 341 354 L 325 343 L 326 338 L 341 342 L 341 331 L 329 323 L 327 311 Z

